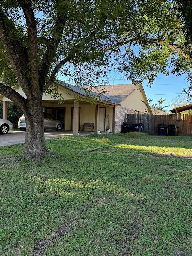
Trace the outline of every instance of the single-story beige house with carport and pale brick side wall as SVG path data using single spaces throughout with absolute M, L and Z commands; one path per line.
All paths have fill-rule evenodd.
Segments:
M 43 110 L 60 120 L 62 129 L 73 131 L 73 135 L 77 135 L 81 125 L 86 122 L 93 123 L 95 133 L 98 130 L 104 132 L 107 127 L 111 132 L 119 133 L 122 122 L 125 122 L 125 114 L 145 113 L 146 105 L 142 101 L 148 103 L 142 84 L 107 85 L 100 98 L 99 91 L 94 89 L 91 94 L 95 104 L 87 101 L 83 87 L 63 82 L 57 83 L 57 87 L 58 93 L 65 99 L 63 104 L 58 104 L 58 99 L 52 98 L 52 95 L 44 94 Z M 21 88 L 16 91 L 26 98 Z M 7 102 L 10 99 L 0 95 L 0 100 L 3 101 L 3 118 L 7 119 Z M 85 130 L 90 131 L 89 128 Z

